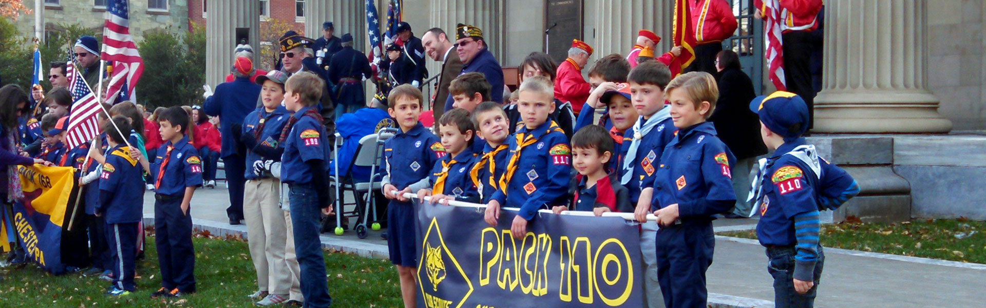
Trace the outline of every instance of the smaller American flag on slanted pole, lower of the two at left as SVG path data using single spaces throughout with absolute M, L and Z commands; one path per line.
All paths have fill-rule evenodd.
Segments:
M 100 133 L 97 125 L 96 116 L 102 111 L 100 102 L 93 94 L 93 88 L 86 83 L 86 78 L 82 78 L 79 70 L 74 68 L 75 64 L 69 63 L 70 78 L 69 91 L 72 92 L 72 114 L 69 115 L 68 132 L 66 132 L 65 144 L 69 149 L 85 143 L 87 140 L 96 137 Z

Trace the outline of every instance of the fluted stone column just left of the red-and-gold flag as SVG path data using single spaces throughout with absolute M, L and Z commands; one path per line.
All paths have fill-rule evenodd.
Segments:
M 589 13 L 593 11 L 597 15 L 594 59 L 610 53 L 626 56 L 637 42 L 637 32 L 641 29 L 651 30 L 661 37 L 655 46 L 655 55 L 670 50 L 673 1 L 599 0 L 595 10 Z

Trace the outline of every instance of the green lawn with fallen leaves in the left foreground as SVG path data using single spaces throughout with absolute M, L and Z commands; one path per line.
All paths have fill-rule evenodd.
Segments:
M 109 282 L 70 273 L 54 276 L 35 266 L 0 269 L 0 307 L 251 307 L 246 295 L 256 290 L 256 274 L 246 242 L 195 238 L 198 292 L 178 300 L 152 300 L 161 283 L 154 238 L 137 263 L 137 292 L 122 298 L 103 295 Z M 396 269 L 385 260 L 325 252 L 332 307 L 398 307 Z

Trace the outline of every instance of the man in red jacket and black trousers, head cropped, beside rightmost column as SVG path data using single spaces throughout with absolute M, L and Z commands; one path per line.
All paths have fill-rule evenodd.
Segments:
M 763 18 L 763 1 L 756 0 L 756 14 Z M 814 88 L 811 87 L 811 51 L 817 48 L 811 40 L 811 32 L 818 29 L 818 12 L 821 0 L 780 1 L 782 55 L 784 56 L 784 84 L 788 92 L 802 97 L 808 105 L 809 127 L 814 124 Z

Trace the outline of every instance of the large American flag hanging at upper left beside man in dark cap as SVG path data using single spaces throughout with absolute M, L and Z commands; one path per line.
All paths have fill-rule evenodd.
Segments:
M 133 98 L 137 80 L 144 72 L 144 61 L 130 36 L 129 6 L 126 0 L 106 2 L 106 28 L 103 30 L 103 59 L 112 61 L 112 75 L 106 91 L 106 103 L 114 104 L 120 96 Z M 124 92 L 124 89 L 126 90 Z

